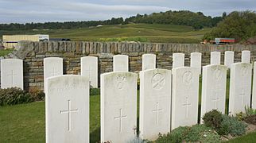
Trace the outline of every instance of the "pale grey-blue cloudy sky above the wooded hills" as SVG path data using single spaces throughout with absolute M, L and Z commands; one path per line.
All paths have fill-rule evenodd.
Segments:
M 106 20 L 167 10 L 215 17 L 224 11 L 254 11 L 256 0 L 0 0 L 0 23 Z

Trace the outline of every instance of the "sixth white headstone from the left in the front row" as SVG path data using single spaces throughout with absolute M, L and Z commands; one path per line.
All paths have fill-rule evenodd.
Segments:
M 229 95 L 229 114 L 245 112 L 245 106 L 250 106 L 251 64 L 231 64 L 231 81 Z

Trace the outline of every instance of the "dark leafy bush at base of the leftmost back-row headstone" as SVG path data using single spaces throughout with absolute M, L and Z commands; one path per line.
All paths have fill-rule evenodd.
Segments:
M 9 106 L 21 103 L 33 102 L 28 92 L 21 88 L 11 87 L 0 89 L 0 106 Z

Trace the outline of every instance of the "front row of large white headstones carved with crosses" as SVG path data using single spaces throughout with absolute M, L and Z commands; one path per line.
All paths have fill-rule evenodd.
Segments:
M 158 133 L 197 123 L 199 75 L 198 68 L 192 67 L 140 72 L 140 137 L 154 140 Z M 230 114 L 250 106 L 251 75 L 251 64 L 231 64 Z M 132 72 L 101 75 L 102 142 L 126 142 L 136 136 L 137 79 L 137 74 Z M 225 112 L 226 83 L 227 66 L 204 66 L 201 115 L 212 109 Z M 255 89 L 252 97 L 254 108 Z M 47 79 L 46 122 L 47 142 L 89 142 L 88 78 L 60 75 Z

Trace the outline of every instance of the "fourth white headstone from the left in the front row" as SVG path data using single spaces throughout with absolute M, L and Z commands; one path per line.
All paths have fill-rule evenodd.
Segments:
M 173 69 L 172 129 L 197 123 L 199 75 L 197 68 Z

